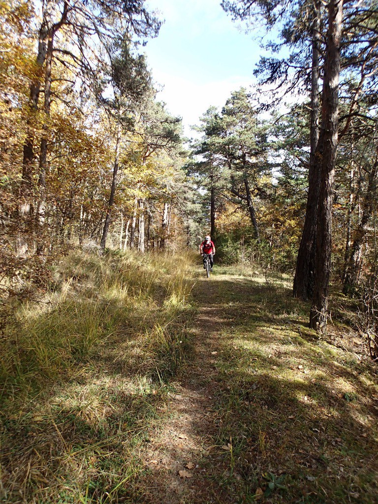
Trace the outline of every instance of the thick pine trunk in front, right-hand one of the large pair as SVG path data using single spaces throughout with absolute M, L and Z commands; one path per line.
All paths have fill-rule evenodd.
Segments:
M 327 328 L 331 273 L 332 201 L 338 134 L 337 114 L 343 0 L 330 0 L 328 15 L 327 53 L 322 96 L 322 128 L 314 160 L 314 169 L 321 169 L 322 175 L 318 208 L 316 272 L 310 310 L 310 327 L 322 333 Z

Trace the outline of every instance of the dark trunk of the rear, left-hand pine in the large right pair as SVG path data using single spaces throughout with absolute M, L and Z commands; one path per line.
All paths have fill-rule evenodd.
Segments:
M 313 4 L 312 64 L 311 64 L 311 112 L 310 112 L 310 165 L 308 169 L 308 195 L 306 215 L 293 282 L 293 295 L 304 301 L 313 294 L 316 255 L 316 231 L 318 219 L 320 165 L 315 167 L 315 152 L 319 140 L 319 59 L 320 59 L 320 9 L 321 3 Z

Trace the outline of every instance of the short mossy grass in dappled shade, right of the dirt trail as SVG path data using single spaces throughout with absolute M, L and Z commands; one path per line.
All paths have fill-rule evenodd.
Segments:
M 350 328 L 338 323 L 330 327 L 337 334 L 321 339 L 308 329 L 309 306 L 291 297 L 284 277 L 264 283 L 254 272 L 217 271 L 214 445 L 232 450 L 204 462 L 217 475 L 214 494 L 232 502 L 377 502 L 376 365 L 346 336 Z

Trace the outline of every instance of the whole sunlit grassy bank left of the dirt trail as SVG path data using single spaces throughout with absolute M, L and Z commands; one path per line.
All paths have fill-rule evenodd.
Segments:
M 187 257 L 73 253 L 2 341 L 6 502 L 133 501 L 190 349 Z

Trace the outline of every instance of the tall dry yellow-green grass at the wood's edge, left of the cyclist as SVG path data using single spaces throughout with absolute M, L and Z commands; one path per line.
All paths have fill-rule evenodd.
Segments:
M 155 339 L 161 326 L 169 335 L 167 328 L 190 295 L 191 267 L 185 255 L 129 252 L 99 258 L 73 252 L 56 270 L 51 292 L 40 303 L 20 306 L 17 324 L 9 326 L 2 341 L 0 394 L 29 393 L 46 380 L 67 379 L 78 358 L 106 345 L 122 327 L 151 330 Z

